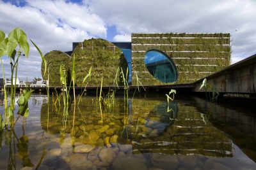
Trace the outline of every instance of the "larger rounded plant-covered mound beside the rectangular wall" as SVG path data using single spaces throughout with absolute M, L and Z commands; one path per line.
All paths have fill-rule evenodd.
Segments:
M 100 87 L 124 85 L 122 71 L 126 76 L 127 61 L 117 46 L 104 39 L 88 39 L 79 43 L 70 59 L 72 68 L 75 57 L 76 85 L 79 87 Z M 84 81 L 92 67 L 91 80 Z M 116 74 L 117 73 L 117 74 Z

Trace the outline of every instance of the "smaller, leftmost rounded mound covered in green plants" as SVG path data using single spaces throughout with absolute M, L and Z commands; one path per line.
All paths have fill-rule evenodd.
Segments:
M 49 73 L 49 86 L 50 87 L 60 87 L 60 66 L 61 64 L 65 65 L 65 73 L 67 75 L 67 85 L 70 84 L 70 69 L 69 69 L 69 62 L 70 62 L 70 56 L 67 55 L 67 53 L 53 50 L 51 52 L 48 52 L 44 56 L 46 62 L 47 62 L 47 71 L 44 75 L 44 64 L 41 64 L 41 72 L 42 77 L 44 80 L 48 80 L 48 73 Z

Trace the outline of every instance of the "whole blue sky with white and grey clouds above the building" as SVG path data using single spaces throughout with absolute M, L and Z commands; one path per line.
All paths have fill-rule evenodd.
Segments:
M 90 38 L 131 41 L 138 32 L 230 33 L 233 64 L 256 53 L 255 9 L 255 0 L 0 0 L 0 30 L 20 27 L 43 55 Z M 18 76 L 32 81 L 42 77 L 41 57 L 29 45 Z M 8 78 L 10 59 L 2 60 Z

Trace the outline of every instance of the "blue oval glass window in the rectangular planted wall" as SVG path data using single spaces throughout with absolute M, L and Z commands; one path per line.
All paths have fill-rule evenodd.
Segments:
M 163 83 L 174 83 L 178 79 L 173 60 L 160 50 L 148 50 L 144 57 L 148 72 Z

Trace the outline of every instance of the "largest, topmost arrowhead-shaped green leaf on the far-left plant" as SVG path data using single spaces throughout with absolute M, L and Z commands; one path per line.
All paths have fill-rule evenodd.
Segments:
M 29 44 L 27 41 L 26 33 L 24 31 L 22 31 L 22 29 L 17 27 L 15 29 L 13 29 L 13 31 L 10 32 L 10 34 L 8 35 L 8 38 L 9 38 L 9 41 L 7 44 L 8 56 L 12 55 L 13 50 L 15 50 L 15 48 L 19 44 L 22 49 L 22 52 L 24 52 L 24 54 L 28 58 Z

